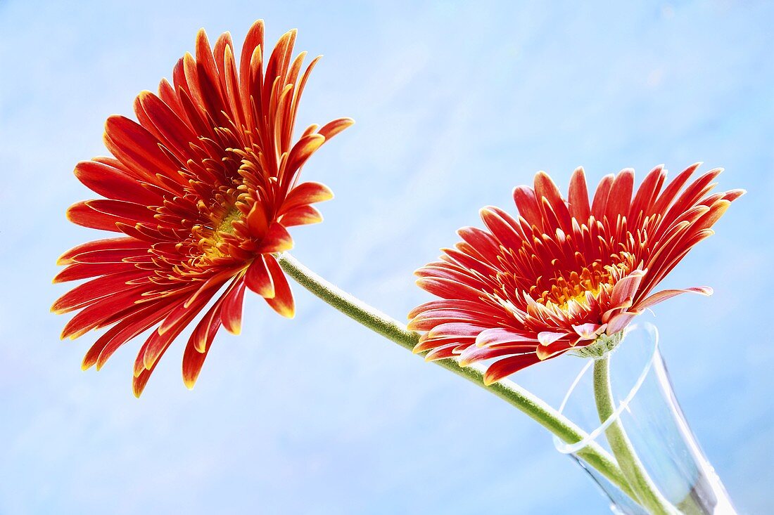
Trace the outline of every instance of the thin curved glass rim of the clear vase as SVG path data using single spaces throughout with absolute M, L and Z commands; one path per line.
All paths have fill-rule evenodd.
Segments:
M 628 333 L 631 333 L 632 331 L 636 329 L 645 329 L 648 333 L 650 333 L 651 341 L 652 341 L 652 349 L 649 350 L 649 354 L 646 356 L 646 363 L 644 363 L 642 367 L 642 372 L 639 373 L 639 377 L 637 377 L 637 380 L 635 381 L 635 384 L 632 386 L 632 389 L 626 394 L 626 397 L 622 399 L 618 403 L 618 406 L 615 408 L 615 411 L 600 425 L 598 425 L 596 428 L 594 428 L 593 431 L 589 432 L 585 438 L 579 440 L 578 442 L 574 443 L 567 443 L 563 442 L 559 437 L 556 435 L 553 436 L 553 445 L 557 448 L 557 451 L 561 452 L 562 454 L 575 454 L 587 445 L 591 444 L 591 442 L 594 442 L 600 435 L 604 434 L 604 431 L 618 418 L 621 417 L 621 414 L 624 412 L 625 409 L 628 408 L 629 403 L 634 399 L 635 395 L 639 391 L 640 387 L 642 387 L 642 384 L 645 382 L 646 377 L 648 377 L 648 374 L 650 373 L 650 370 L 653 367 L 653 363 L 656 361 L 656 358 L 659 356 L 659 329 L 654 326 L 651 322 L 636 322 L 629 326 L 627 326 L 624 329 L 624 336 L 622 338 L 622 343 L 626 339 L 626 336 Z M 615 352 L 611 351 L 611 352 Z M 558 411 L 562 413 L 564 411 L 564 408 L 567 407 L 568 401 L 570 401 L 570 396 L 575 391 L 575 388 L 580 383 L 580 380 L 584 377 L 585 373 L 588 372 L 588 370 L 594 365 L 594 360 L 588 360 L 588 363 L 584 365 L 582 369 L 580 369 L 580 372 L 577 374 L 577 377 L 573 380 L 573 383 L 570 385 L 570 388 L 567 390 L 567 394 L 564 395 L 564 398 L 562 400 L 562 403 L 560 404 L 560 407 Z

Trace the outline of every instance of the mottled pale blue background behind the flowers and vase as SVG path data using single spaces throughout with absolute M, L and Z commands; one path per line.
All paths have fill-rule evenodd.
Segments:
M 325 53 L 301 124 L 358 121 L 307 179 L 337 198 L 294 254 L 402 318 L 429 299 L 411 272 L 514 211 L 539 169 L 566 189 L 632 166 L 703 160 L 749 190 L 659 305 L 676 391 L 743 513 L 772 513 L 774 4 L 770 2 L 0 2 L 0 513 L 604 513 L 602 496 L 519 411 L 361 329 L 297 285 L 296 319 L 255 295 L 221 331 L 193 392 L 183 341 L 141 400 L 131 343 L 80 371 L 94 335 L 60 342 L 54 261 L 97 236 L 64 218 L 91 198 L 71 173 L 194 49 L 241 41 Z M 557 360 L 560 361 L 560 360 Z M 571 377 L 515 377 L 557 403 Z

